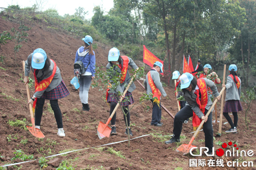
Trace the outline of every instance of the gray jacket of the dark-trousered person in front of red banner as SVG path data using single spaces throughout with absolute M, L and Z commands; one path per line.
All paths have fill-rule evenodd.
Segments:
M 162 83 L 161 83 L 161 80 L 160 80 L 160 77 L 159 77 L 159 72 L 157 72 L 153 69 L 150 70 L 149 72 L 150 72 L 151 78 L 153 79 L 153 81 L 155 83 L 156 88 L 159 89 L 159 91 L 162 93 L 163 97 L 167 96 L 166 92 L 164 91 L 164 89 L 162 87 Z M 152 93 L 151 87 L 148 83 L 148 74 L 146 75 L 146 79 L 144 81 L 144 86 L 145 86 L 145 89 L 147 91 L 147 94 Z

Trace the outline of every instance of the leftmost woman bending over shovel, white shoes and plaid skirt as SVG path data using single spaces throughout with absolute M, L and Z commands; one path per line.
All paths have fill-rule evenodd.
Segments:
M 61 78 L 61 71 L 54 60 L 49 59 L 46 52 L 38 48 L 31 53 L 25 62 L 25 85 L 29 82 L 28 76 L 32 68 L 35 79 L 35 93 L 27 104 L 31 103 L 35 111 L 35 128 L 40 129 L 45 99 L 50 100 L 54 117 L 58 126 L 59 137 L 65 137 L 63 130 L 61 109 L 58 99 L 69 95 L 66 85 Z

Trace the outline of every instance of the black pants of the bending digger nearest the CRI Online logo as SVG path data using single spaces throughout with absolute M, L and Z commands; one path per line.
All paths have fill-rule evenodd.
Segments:
M 208 112 L 205 109 L 204 114 Z M 174 117 L 174 128 L 173 134 L 176 139 L 180 138 L 182 132 L 182 123 L 187 118 L 193 116 L 193 110 L 189 105 L 183 107 Z M 212 129 L 212 112 L 209 114 L 207 121 L 203 124 L 203 132 L 204 132 L 204 140 L 205 140 L 205 147 L 209 148 L 209 151 L 212 151 L 213 147 L 213 129 Z

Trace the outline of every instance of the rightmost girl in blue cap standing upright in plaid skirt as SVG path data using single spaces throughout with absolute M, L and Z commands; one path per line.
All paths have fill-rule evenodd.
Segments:
M 223 110 L 224 117 L 228 120 L 231 128 L 226 133 L 237 133 L 237 122 L 238 116 L 237 112 L 242 111 L 242 105 L 240 102 L 240 94 L 241 94 L 241 79 L 237 77 L 237 67 L 236 65 L 229 65 L 229 76 L 227 78 L 227 84 L 222 85 L 222 87 L 226 87 L 227 93 L 225 98 L 225 106 Z M 229 112 L 232 112 L 234 116 L 234 123 L 232 119 L 229 117 Z

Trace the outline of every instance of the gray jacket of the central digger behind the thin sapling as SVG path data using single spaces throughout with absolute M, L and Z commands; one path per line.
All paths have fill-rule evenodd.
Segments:
M 137 69 L 138 66 L 135 64 L 135 62 L 133 61 L 133 59 L 131 59 L 131 58 L 129 58 L 129 57 L 128 57 L 128 59 L 129 59 L 128 65 L 130 65 L 133 69 Z M 123 65 L 123 61 L 122 61 L 121 65 Z M 110 67 L 113 67 L 113 66 L 114 66 L 114 65 L 113 65 L 111 62 L 108 62 L 106 68 L 107 68 L 107 70 L 108 70 L 108 69 L 110 69 Z M 114 67 L 114 70 L 115 70 L 115 72 L 121 73 L 121 69 L 120 69 L 119 66 L 117 66 L 117 65 Z M 114 72 L 114 74 L 115 74 L 115 72 Z M 109 74 L 109 76 L 111 77 L 111 72 L 108 72 L 108 74 Z M 129 84 L 131 78 L 132 78 L 132 77 L 130 77 L 129 72 L 127 71 L 124 82 L 123 82 L 122 84 L 118 85 L 116 89 L 110 89 L 110 92 L 112 92 L 112 93 L 118 93 L 118 92 L 123 93 L 123 92 L 124 92 L 124 87 L 125 87 L 125 85 L 128 85 L 128 84 Z M 110 82 L 110 83 L 112 83 L 112 82 Z M 135 88 L 136 88 L 135 84 L 132 83 L 132 84 L 130 85 L 129 89 L 128 89 L 128 92 L 133 92 L 133 91 L 135 90 Z

